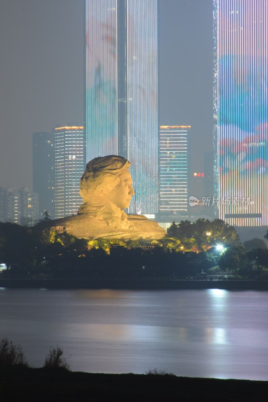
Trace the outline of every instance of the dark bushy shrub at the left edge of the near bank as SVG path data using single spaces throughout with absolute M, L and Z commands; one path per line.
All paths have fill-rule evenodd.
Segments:
M 0 366 L 28 366 L 20 345 L 16 346 L 8 338 L 0 340 Z

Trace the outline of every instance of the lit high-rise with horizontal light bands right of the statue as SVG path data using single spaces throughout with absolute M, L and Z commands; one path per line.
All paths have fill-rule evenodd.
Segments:
M 160 126 L 160 214 L 188 211 L 191 126 Z

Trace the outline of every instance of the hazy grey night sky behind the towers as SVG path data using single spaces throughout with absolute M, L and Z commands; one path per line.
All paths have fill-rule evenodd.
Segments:
M 212 150 L 212 0 L 160 0 L 160 124 Z M 0 186 L 32 185 L 32 134 L 83 124 L 83 1 L 0 0 Z

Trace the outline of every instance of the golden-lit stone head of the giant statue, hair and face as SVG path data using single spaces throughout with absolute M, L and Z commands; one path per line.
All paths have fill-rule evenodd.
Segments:
M 129 166 L 127 159 L 116 155 L 98 157 L 88 162 L 80 182 L 84 204 L 128 208 L 134 195 Z

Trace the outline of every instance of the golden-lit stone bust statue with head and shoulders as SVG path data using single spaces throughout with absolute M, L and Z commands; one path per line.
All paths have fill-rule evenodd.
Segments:
M 117 238 L 124 240 L 157 240 L 164 229 L 144 216 L 127 215 L 134 195 L 130 162 L 122 156 L 105 156 L 88 162 L 81 177 L 83 204 L 78 214 L 51 221 L 50 226 L 78 238 Z

